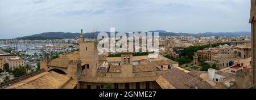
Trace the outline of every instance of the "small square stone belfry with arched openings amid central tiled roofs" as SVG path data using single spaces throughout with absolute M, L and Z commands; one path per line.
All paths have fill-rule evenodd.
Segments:
M 121 53 L 121 76 L 133 75 L 133 53 Z

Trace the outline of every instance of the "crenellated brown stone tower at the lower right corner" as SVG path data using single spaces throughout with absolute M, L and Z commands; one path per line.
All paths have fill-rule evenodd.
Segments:
M 251 86 L 250 81 L 250 71 L 245 69 L 240 69 L 236 72 L 236 88 L 237 89 L 247 89 Z

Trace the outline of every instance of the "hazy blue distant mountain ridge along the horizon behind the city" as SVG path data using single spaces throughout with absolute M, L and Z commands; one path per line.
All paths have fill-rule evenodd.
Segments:
M 197 34 L 193 33 L 175 33 L 175 32 L 167 32 L 167 31 L 148 31 L 148 32 L 159 32 L 159 36 L 183 36 L 184 34 L 188 34 L 189 36 L 197 36 Z M 97 38 L 97 35 L 100 32 L 95 32 L 94 36 L 92 33 L 84 33 L 84 36 L 87 38 Z M 106 32 L 110 36 L 110 32 Z M 118 32 L 116 32 L 118 33 Z M 44 32 L 40 34 L 34 34 L 31 36 L 18 37 L 16 39 L 19 40 L 52 40 L 52 39 L 62 39 L 62 38 L 76 38 L 79 37 L 80 33 L 71 33 L 71 32 Z M 126 33 L 128 34 L 128 33 Z M 205 32 L 198 33 L 200 36 L 251 36 L 251 32 Z

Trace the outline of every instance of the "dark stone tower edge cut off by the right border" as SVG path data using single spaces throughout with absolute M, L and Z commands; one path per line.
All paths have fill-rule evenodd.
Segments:
M 256 1 L 255 0 L 251 0 L 251 14 L 250 14 L 250 21 L 249 23 L 251 23 L 251 46 L 252 48 L 252 55 L 251 55 L 251 71 L 252 71 L 252 85 L 256 84 L 256 20 L 255 20 L 255 16 L 256 16 Z

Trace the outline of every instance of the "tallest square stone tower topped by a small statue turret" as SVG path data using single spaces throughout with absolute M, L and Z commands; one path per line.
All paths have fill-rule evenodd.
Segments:
M 95 76 L 99 64 L 97 41 L 84 41 L 80 35 L 79 58 L 81 60 L 82 71 L 86 76 Z

